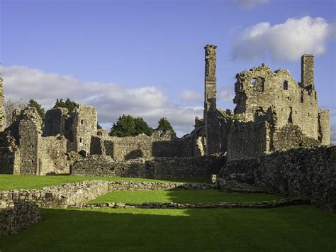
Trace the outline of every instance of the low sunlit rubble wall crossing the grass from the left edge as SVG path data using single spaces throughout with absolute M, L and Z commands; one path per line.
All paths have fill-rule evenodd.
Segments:
M 0 191 L 0 199 L 33 201 L 40 207 L 80 207 L 107 192 L 106 181 L 92 180 L 43 187 L 43 190 Z

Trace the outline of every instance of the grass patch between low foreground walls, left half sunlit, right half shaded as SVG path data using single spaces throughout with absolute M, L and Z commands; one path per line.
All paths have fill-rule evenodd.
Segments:
M 169 191 L 120 191 L 108 192 L 89 203 L 125 202 L 142 204 L 144 202 L 253 202 L 281 199 L 284 197 L 262 193 L 223 193 L 218 190 L 169 190 Z

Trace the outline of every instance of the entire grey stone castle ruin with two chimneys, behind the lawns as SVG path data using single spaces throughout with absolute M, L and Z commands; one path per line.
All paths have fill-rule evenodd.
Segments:
M 97 175 L 103 170 L 104 175 L 174 177 L 180 172 L 179 176 L 197 177 L 213 174 L 206 162 L 217 162 L 212 159 L 225 153 L 229 162 L 259 158 L 275 150 L 330 144 L 330 116 L 318 108 L 313 55 L 301 57 L 301 82 L 288 70 L 273 72 L 264 64 L 238 73 L 236 80 L 234 111 L 218 109 L 216 46 L 206 45 L 204 113 L 203 119 L 196 117 L 194 131 L 183 138 L 157 132 L 118 138 L 97 130 L 96 109 L 86 105 L 78 105 L 70 114 L 64 108 L 50 109 L 44 132 L 35 109 L 16 109 L 13 123 L 5 128 L 0 79 L 0 173 L 85 175 L 91 165 L 90 175 L 96 169 Z M 201 158 L 209 172 L 194 174 Z M 172 163 L 184 170 L 164 173 Z M 135 167 L 147 171 L 123 172 Z

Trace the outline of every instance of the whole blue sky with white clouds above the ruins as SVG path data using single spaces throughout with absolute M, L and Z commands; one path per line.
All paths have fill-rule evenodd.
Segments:
M 203 113 L 204 52 L 218 46 L 218 107 L 235 74 L 266 63 L 301 80 L 315 55 L 319 106 L 336 141 L 336 2 L 327 0 L 0 0 L 6 98 L 91 104 L 110 128 L 121 114 L 160 117 L 179 136 Z

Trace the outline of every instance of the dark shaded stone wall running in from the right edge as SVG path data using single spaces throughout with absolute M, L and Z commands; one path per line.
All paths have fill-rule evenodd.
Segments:
M 224 180 L 254 184 L 264 192 L 308 197 L 336 210 L 336 146 L 276 151 L 259 160 L 236 160 L 220 171 Z

